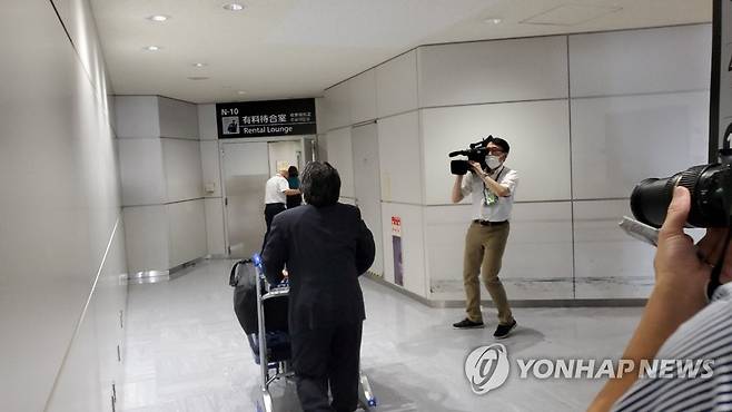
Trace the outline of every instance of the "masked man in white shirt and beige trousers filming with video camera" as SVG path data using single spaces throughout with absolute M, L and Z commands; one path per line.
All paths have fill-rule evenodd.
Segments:
M 511 147 L 501 138 L 493 138 L 486 145 L 486 169 L 479 163 L 468 161 L 471 173 L 463 178 L 457 175 L 453 185 L 452 200 L 458 203 L 471 195 L 473 203 L 471 226 L 465 236 L 463 258 L 463 282 L 465 285 L 467 317 L 454 323 L 455 328 L 483 327 L 481 313 L 481 283 L 478 274 L 483 272 L 485 283 L 493 303 L 498 310 L 498 326 L 493 336 L 503 339 L 516 327 L 511 314 L 508 298 L 498 278 L 501 259 L 508 239 L 511 209 L 518 184 L 516 170 L 504 166 Z

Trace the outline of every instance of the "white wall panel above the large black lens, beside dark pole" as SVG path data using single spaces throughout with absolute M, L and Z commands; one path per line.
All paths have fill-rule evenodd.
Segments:
M 709 92 L 572 100 L 574 197 L 629 197 L 647 177 L 706 163 Z

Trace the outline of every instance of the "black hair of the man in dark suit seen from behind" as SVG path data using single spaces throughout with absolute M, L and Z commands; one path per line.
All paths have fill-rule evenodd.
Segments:
M 311 161 L 300 175 L 300 189 L 308 205 L 323 207 L 335 205 L 340 197 L 340 176 L 327 161 Z

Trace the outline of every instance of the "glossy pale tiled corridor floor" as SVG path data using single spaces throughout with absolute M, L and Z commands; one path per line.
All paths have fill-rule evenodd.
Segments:
M 255 411 L 258 369 L 231 308 L 233 261 L 209 261 L 170 282 L 131 285 L 122 411 Z M 502 343 L 508 380 L 475 395 L 464 362 L 494 342 L 486 328 L 456 331 L 463 311 L 426 307 L 363 279 L 367 321 L 362 364 L 377 411 L 581 411 L 603 381 L 521 379 L 516 359 L 617 357 L 641 308 L 516 308 L 518 328 Z M 276 384 L 278 411 L 296 412 L 293 384 Z

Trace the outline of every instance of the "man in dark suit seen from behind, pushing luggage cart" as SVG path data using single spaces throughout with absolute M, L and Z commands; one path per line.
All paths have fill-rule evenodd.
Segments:
M 275 216 L 261 264 L 273 285 L 285 267 L 289 273 L 288 326 L 303 410 L 350 412 L 358 404 L 366 317 L 358 276 L 374 263 L 374 238 L 358 208 L 338 203 L 333 166 L 305 166 L 300 188 L 307 205 Z

